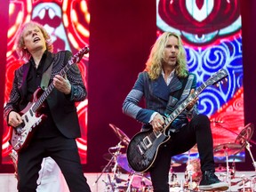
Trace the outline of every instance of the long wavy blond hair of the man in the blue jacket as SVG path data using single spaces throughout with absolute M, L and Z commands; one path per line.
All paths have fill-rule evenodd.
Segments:
M 180 36 L 173 32 L 164 32 L 157 38 L 156 43 L 153 44 L 148 60 L 146 62 L 145 71 L 148 71 L 149 78 L 152 80 L 155 80 L 161 74 L 162 63 L 164 60 L 164 48 L 167 44 L 169 36 L 175 36 L 178 38 L 178 45 L 180 50 L 177 57 L 175 73 L 179 77 L 188 76 L 187 55 Z

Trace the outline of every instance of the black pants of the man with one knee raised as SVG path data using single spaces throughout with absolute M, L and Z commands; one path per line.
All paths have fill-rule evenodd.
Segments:
M 154 192 L 168 192 L 168 176 L 172 156 L 179 155 L 197 143 L 202 172 L 214 170 L 212 131 L 207 116 L 195 116 L 180 132 L 172 133 L 171 139 L 158 150 L 156 161 L 149 169 Z

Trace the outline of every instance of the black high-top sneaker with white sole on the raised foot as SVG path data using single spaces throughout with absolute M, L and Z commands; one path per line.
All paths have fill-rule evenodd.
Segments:
M 214 174 L 214 171 L 205 171 L 202 180 L 200 181 L 199 189 L 204 191 L 225 191 L 228 189 L 228 183 L 220 181 L 218 177 Z

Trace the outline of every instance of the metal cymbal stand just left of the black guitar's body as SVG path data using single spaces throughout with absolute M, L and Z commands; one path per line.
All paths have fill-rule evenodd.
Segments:
M 106 170 L 109 169 L 110 165 L 115 162 L 115 165 L 114 165 L 114 168 L 113 168 L 113 177 L 112 179 L 110 178 L 109 174 L 108 174 L 108 181 L 109 181 L 109 184 L 112 188 L 112 190 L 114 191 L 114 188 L 115 188 L 115 184 L 114 183 L 114 180 L 116 178 L 116 168 L 117 168 L 117 161 L 116 161 L 116 156 L 118 156 L 120 154 L 120 150 L 121 150 L 121 141 L 116 145 L 115 147 L 117 150 L 115 152 L 115 154 L 111 157 L 111 159 L 108 161 L 108 164 L 106 164 L 106 166 L 103 168 L 103 170 L 101 171 L 99 177 L 97 178 L 97 180 L 95 180 L 95 182 L 92 184 L 92 186 L 94 186 L 99 180 L 100 180 L 100 177 L 102 176 L 102 174 L 104 172 L 106 172 Z M 103 180 L 104 181 L 104 180 Z M 105 182 L 105 181 L 104 181 Z M 108 185 L 108 182 L 105 182 L 106 185 Z

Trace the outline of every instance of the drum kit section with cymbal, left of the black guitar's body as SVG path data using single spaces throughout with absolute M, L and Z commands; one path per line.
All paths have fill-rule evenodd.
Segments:
M 147 173 L 134 172 L 128 164 L 125 153 L 121 149 L 126 148 L 130 142 L 129 137 L 115 124 L 109 124 L 109 127 L 120 140 L 115 147 L 108 148 L 108 153 L 103 158 L 108 160 L 108 164 L 103 167 L 100 176 L 95 183 L 100 180 L 101 175 L 107 172 L 105 183 L 105 192 L 149 192 L 153 191 L 151 180 Z M 121 178 L 121 174 L 128 175 L 127 178 Z

